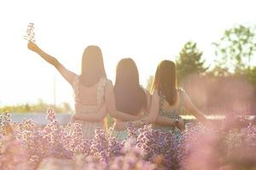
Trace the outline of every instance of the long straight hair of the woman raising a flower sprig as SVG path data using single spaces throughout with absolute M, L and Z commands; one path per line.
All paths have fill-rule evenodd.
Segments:
M 102 77 L 107 77 L 102 50 L 97 46 L 90 45 L 84 49 L 80 81 L 84 86 L 90 87 L 99 82 Z

